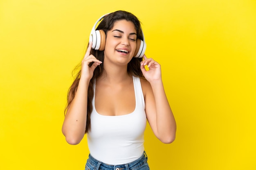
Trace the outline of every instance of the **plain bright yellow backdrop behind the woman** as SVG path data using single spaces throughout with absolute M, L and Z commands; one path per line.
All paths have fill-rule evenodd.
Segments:
M 0 169 L 84 169 L 86 137 L 61 133 L 67 89 L 93 24 L 117 10 L 141 20 L 177 121 L 172 144 L 147 126 L 150 168 L 255 170 L 255 0 L 0 0 Z

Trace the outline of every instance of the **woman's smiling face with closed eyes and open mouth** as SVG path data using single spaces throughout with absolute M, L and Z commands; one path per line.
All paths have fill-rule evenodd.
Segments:
M 136 30 L 132 22 L 119 20 L 107 32 L 104 50 L 104 63 L 110 61 L 121 65 L 128 64 L 136 49 Z

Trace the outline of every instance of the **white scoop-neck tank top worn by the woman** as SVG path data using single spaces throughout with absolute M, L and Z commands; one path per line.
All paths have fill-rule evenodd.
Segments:
M 87 133 L 87 140 L 91 156 L 103 163 L 111 165 L 130 163 L 144 152 L 145 101 L 140 79 L 133 77 L 133 85 L 135 110 L 121 116 L 103 116 L 95 109 L 94 83 L 91 130 Z

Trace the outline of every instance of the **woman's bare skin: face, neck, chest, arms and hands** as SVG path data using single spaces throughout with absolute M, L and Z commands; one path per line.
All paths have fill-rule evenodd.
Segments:
M 136 48 L 136 30 L 132 22 L 120 20 L 107 32 L 104 50 L 103 75 L 96 80 L 95 108 L 105 116 L 129 114 L 135 109 L 135 92 L 132 76 L 127 73 L 127 64 Z M 92 43 L 82 61 L 81 78 L 74 100 L 67 109 L 62 131 L 69 144 L 79 144 L 86 126 L 87 91 L 94 69 L 102 62 L 90 55 Z M 141 79 L 148 123 L 155 136 L 163 143 L 175 139 L 176 123 L 162 83 L 161 66 L 143 56 Z M 94 62 L 91 67 L 89 64 Z M 145 66 L 149 70 L 146 71 Z

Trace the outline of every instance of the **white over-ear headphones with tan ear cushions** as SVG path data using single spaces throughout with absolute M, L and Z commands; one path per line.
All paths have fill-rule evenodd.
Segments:
M 94 50 L 100 50 L 103 51 L 105 49 L 106 45 L 106 34 L 103 30 L 95 30 L 96 25 L 100 20 L 103 19 L 103 17 L 107 16 L 109 13 L 102 15 L 99 20 L 94 24 L 92 27 L 92 31 L 90 33 L 89 41 L 92 42 L 92 49 Z M 145 51 L 146 51 L 146 43 L 145 43 L 145 37 L 142 31 L 143 41 L 138 39 L 136 40 L 136 49 L 133 57 L 141 58 Z

